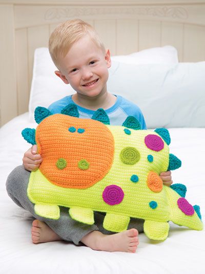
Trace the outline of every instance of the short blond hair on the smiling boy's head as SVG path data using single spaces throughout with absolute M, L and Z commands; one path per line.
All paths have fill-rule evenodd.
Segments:
M 54 29 L 49 38 L 49 52 L 57 67 L 59 58 L 64 58 L 71 46 L 86 34 L 90 35 L 92 41 L 105 51 L 104 44 L 100 41 L 95 29 L 80 19 L 66 21 Z

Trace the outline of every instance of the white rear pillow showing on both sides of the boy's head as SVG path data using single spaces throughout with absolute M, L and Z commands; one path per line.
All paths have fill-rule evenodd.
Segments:
M 142 50 L 128 56 L 114 56 L 112 60 L 125 63 L 155 63 L 178 62 L 177 51 L 172 46 Z M 150 61 L 148 61 L 150 60 Z M 29 120 L 33 121 L 34 110 L 37 106 L 49 106 L 52 102 L 75 91 L 66 85 L 55 74 L 57 68 L 53 64 L 48 48 L 37 48 L 34 53 L 33 78 L 29 100 Z

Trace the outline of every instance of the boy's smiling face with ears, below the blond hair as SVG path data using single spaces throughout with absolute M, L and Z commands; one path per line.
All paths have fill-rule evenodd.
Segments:
M 75 42 L 58 64 L 60 71 L 55 74 L 81 96 L 95 97 L 107 92 L 110 52 L 103 52 L 89 35 Z

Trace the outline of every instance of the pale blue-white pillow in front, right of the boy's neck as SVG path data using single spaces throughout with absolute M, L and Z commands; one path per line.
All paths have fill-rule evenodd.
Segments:
M 205 62 L 113 62 L 108 90 L 137 104 L 149 128 L 205 127 Z

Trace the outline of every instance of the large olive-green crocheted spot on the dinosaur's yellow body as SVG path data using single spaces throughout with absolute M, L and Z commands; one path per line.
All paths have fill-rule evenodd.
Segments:
M 124 148 L 119 155 L 122 162 L 134 165 L 140 159 L 140 153 L 133 147 Z

